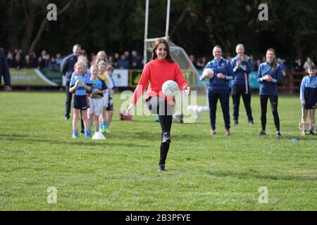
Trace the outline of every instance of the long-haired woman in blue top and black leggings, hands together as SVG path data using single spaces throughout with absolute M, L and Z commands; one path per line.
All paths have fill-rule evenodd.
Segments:
M 266 135 L 266 110 L 270 98 L 272 114 L 276 129 L 276 137 L 281 138 L 280 118 L 278 117 L 278 84 L 282 80 L 280 65 L 276 60 L 274 49 L 266 51 L 266 62 L 259 65 L 258 82 L 260 83 L 261 125 L 260 136 Z

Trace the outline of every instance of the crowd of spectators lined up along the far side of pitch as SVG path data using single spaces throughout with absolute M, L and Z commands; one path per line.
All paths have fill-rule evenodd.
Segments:
M 82 56 L 87 57 L 87 52 L 85 49 L 82 49 Z M 25 55 L 21 49 L 15 49 L 13 52 L 9 51 L 7 54 L 8 66 L 9 68 L 38 68 L 38 69 L 49 69 L 54 71 L 59 71 L 61 62 L 65 56 L 61 56 L 61 53 L 57 53 L 56 56 L 50 56 L 45 50 L 43 50 L 40 56 L 32 51 L 31 53 Z M 88 58 L 88 57 L 87 57 Z M 257 71 L 259 65 L 265 61 L 265 56 L 261 59 L 255 59 L 250 55 L 252 62 L 252 71 Z M 189 56 L 189 59 L 192 61 L 193 65 L 197 70 L 203 70 L 206 63 L 210 59 L 207 59 L 206 56 L 202 56 L 196 60 L 193 55 Z M 231 57 L 227 57 L 228 60 L 231 60 Z M 90 65 L 94 64 L 96 60 L 96 55 L 92 53 L 90 55 Z M 113 56 L 108 56 L 108 63 L 116 69 L 132 69 L 132 70 L 142 70 L 143 68 L 143 58 L 139 56 L 137 51 L 133 50 L 131 52 L 124 51 L 122 54 L 114 53 Z M 302 63 L 301 58 L 296 58 L 294 63 L 286 63 L 285 59 L 278 58 L 278 63 L 282 66 L 283 75 L 286 75 L 286 70 L 293 71 L 305 71 L 309 65 L 313 63 L 311 58 L 307 58 L 304 63 Z

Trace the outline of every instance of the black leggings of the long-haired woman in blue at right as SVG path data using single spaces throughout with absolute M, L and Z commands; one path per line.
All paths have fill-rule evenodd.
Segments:
M 266 130 L 266 110 L 268 105 L 268 98 L 270 98 L 275 129 L 276 131 L 280 131 L 280 117 L 278 117 L 278 96 L 264 96 L 264 95 L 260 96 L 262 130 L 263 131 Z

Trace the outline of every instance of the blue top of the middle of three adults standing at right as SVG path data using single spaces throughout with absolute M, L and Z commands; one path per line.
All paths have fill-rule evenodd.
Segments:
M 240 67 L 237 68 L 237 61 L 240 61 Z M 247 73 L 249 75 L 249 72 L 251 71 L 251 59 L 248 56 L 247 62 L 242 61 L 242 58 L 239 56 L 235 56 L 235 58 L 232 58 L 231 60 L 231 66 L 233 68 L 233 79 L 232 79 L 232 85 L 233 84 L 243 84 L 245 85 L 245 76 L 244 73 Z

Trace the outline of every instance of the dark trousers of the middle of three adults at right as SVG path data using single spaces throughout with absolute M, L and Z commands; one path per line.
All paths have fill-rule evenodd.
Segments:
M 250 90 L 250 88 L 248 88 Z M 247 112 L 247 117 L 249 121 L 253 121 L 252 111 L 251 111 L 251 94 L 250 91 L 246 94 L 245 85 L 234 84 L 231 89 L 232 102 L 233 102 L 233 120 L 238 120 L 239 117 L 239 106 L 240 106 L 240 96 L 244 103 L 244 108 Z

